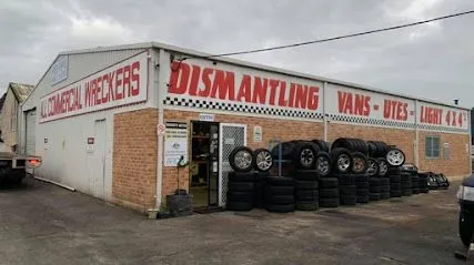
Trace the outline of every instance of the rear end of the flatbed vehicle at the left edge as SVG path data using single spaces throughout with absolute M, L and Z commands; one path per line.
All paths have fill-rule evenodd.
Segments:
M 40 164 L 40 156 L 0 152 L 0 184 L 20 184 L 27 175 L 27 169 L 38 167 Z

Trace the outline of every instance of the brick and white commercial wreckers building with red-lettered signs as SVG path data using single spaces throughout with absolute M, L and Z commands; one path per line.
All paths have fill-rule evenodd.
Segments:
M 42 156 L 38 176 L 143 212 L 178 187 L 223 206 L 240 145 L 360 137 L 421 171 L 471 172 L 467 109 L 206 57 L 154 42 L 60 53 L 22 104 L 20 151 Z

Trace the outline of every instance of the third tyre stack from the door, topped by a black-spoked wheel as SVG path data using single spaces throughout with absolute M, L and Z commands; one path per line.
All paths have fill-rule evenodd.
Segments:
M 320 207 L 320 177 L 330 173 L 329 144 L 321 140 L 293 143 L 294 170 L 291 175 L 295 180 L 295 207 L 300 211 L 316 211 Z

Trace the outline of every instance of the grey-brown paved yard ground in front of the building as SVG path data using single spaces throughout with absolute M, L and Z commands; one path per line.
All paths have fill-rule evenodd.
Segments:
M 0 190 L 0 264 L 463 264 L 456 188 L 314 213 L 150 221 L 28 180 Z

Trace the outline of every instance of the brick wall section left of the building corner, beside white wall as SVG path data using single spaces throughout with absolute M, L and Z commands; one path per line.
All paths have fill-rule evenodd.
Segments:
M 154 206 L 157 119 L 157 109 L 113 118 L 112 200 L 142 212 Z

